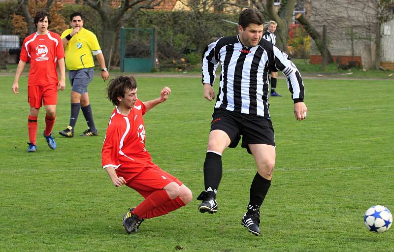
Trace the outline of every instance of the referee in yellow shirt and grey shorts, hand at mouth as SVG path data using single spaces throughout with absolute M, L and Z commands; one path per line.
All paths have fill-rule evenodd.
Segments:
M 99 41 L 93 32 L 83 28 L 83 24 L 82 14 L 78 12 L 72 13 L 70 15 L 71 29 L 67 29 L 61 35 L 72 87 L 70 123 L 65 130 L 59 132 L 65 137 L 74 136 L 74 127 L 78 119 L 79 109 L 82 109 L 86 123 L 89 126 L 80 136 L 97 136 L 99 134 L 93 121 L 88 95 L 88 86 L 93 79 L 93 67 L 95 66 L 93 55 L 99 61 L 102 79 L 106 81 L 109 78 Z

